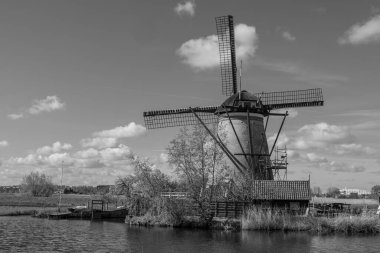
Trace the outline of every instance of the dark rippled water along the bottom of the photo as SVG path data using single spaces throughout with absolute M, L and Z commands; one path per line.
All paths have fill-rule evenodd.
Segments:
M 380 252 L 380 236 L 130 227 L 0 217 L 0 252 Z

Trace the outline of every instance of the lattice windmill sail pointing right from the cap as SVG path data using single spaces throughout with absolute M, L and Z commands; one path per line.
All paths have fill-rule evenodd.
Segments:
M 269 110 L 293 107 L 323 106 L 322 89 L 262 92 L 259 97 Z

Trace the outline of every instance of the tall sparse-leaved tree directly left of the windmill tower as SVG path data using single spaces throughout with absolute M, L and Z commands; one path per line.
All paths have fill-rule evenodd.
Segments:
M 224 153 L 201 125 L 192 130 L 181 128 L 167 151 L 168 161 L 189 197 L 198 205 L 201 215 L 207 216 L 208 203 L 223 192 L 228 178 Z

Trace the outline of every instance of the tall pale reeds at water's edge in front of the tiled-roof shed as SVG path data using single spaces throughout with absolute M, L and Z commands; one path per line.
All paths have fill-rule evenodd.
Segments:
M 241 218 L 245 230 L 313 231 L 321 233 L 377 234 L 380 233 L 378 216 L 339 216 L 335 218 L 303 217 L 283 214 L 278 210 L 247 210 Z

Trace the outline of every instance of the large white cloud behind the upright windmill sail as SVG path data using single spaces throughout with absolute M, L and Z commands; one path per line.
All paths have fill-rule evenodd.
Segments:
M 256 28 L 246 24 L 236 25 L 235 41 L 237 60 L 253 57 L 258 41 Z M 220 64 L 216 35 L 188 40 L 180 46 L 176 53 L 182 58 L 183 63 L 195 70 L 211 69 Z

